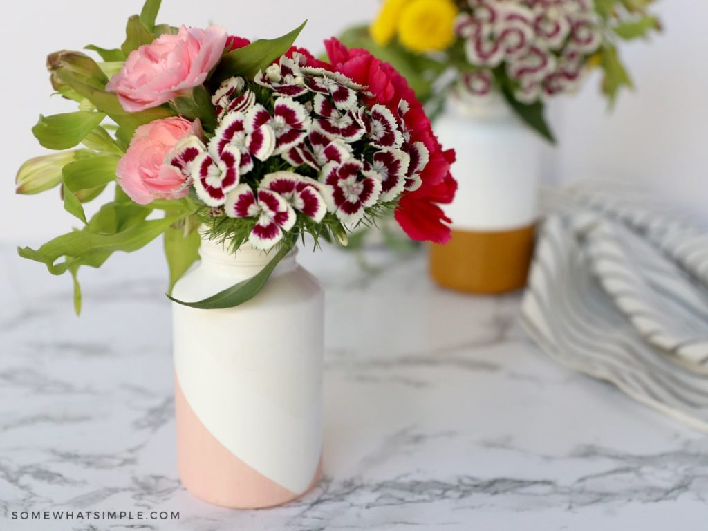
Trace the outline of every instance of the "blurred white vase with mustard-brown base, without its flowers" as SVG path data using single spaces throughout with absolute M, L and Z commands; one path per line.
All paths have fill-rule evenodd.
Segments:
M 481 101 L 451 96 L 435 133 L 457 152 L 459 188 L 445 205 L 452 239 L 430 247 L 431 275 L 459 291 L 518 290 L 533 251 L 542 140 L 498 94 Z

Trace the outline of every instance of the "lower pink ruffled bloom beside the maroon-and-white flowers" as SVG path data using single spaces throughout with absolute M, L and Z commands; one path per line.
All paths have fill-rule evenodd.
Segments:
M 173 117 L 155 120 L 135 130 L 118 162 L 118 183 L 139 205 L 154 199 L 178 199 L 189 193 L 190 181 L 177 157 L 176 146 L 186 137 L 200 137 L 199 121 Z M 196 139 L 195 139 L 195 142 Z

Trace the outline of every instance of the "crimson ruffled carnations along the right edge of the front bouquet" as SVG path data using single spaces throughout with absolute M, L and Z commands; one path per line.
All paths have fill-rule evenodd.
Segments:
M 396 114 L 399 113 L 401 100 L 408 104 L 404 122 L 409 130 L 409 142 L 422 142 L 428 149 L 430 161 L 421 173 L 421 187 L 401 198 L 396 208 L 396 221 L 413 239 L 444 244 L 450 239 L 450 227 L 447 225 L 450 219 L 438 203 L 449 203 L 455 195 L 457 182 L 450 173 L 455 152 L 452 149 L 442 149 L 423 105 L 408 86 L 408 81 L 394 67 L 380 61 L 367 50 L 349 50 L 336 38 L 326 40 L 324 44 L 334 69 L 356 83 L 367 86 L 374 103 L 386 105 Z

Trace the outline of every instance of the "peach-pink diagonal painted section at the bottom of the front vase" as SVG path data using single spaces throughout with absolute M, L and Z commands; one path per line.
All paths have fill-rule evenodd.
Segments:
M 195 415 L 175 377 L 177 463 L 185 488 L 198 498 L 218 506 L 252 509 L 278 506 L 294 500 L 294 493 L 256 472 L 229 452 Z M 319 481 L 322 461 L 309 491 Z

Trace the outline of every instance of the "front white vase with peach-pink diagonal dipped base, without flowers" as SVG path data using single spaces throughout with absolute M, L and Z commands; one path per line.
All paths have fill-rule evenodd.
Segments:
M 230 309 L 173 303 L 178 468 L 219 506 L 280 505 L 321 474 L 324 296 L 295 253 L 263 290 Z M 197 301 L 251 278 L 272 258 L 202 239 L 173 296 Z

